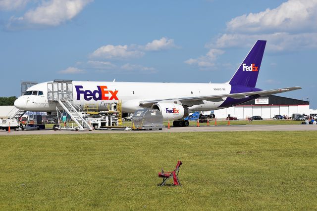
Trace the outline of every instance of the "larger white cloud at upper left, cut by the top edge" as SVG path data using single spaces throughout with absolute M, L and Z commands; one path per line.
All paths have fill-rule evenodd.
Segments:
M 28 10 L 21 17 L 11 17 L 7 29 L 58 26 L 73 19 L 93 0 L 48 0 L 41 1 L 35 9 Z

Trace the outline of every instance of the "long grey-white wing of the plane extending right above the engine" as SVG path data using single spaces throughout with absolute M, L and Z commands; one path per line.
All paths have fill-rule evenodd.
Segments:
M 243 99 L 246 97 L 250 97 L 253 95 L 267 96 L 271 94 L 278 94 L 286 91 L 293 91 L 301 89 L 299 86 L 289 87 L 289 88 L 279 88 L 279 89 L 270 89 L 270 90 L 261 90 L 261 91 L 250 91 L 250 92 L 240 92 L 240 93 L 232 93 L 232 94 L 219 94 L 219 95 L 208 95 L 208 96 L 195 96 L 195 97 L 179 97 L 179 98 L 169 98 L 169 99 L 154 99 L 154 100 L 142 100 L 139 102 L 140 106 L 151 106 L 154 103 L 158 103 L 160 101 L 165 100 L 178 100 L 180 102 L 184 102 L 186 105 L 199 105 L 203 104 L 203 100 L 218 102 L 223 101 L 223 98 L 231 97 L 234 99 Z

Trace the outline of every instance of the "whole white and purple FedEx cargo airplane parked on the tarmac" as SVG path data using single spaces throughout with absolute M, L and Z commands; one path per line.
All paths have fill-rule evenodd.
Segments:
M 132 83 L 72 81 L 73 104 L 84 109 L 86 104 L 107 110 L 108 103 L 122 102 L 122 112 L 142 108 L 159 109 L 164 120 L 182 120 L 190 111 L 210 111 L 239 105 L 249 100 L 300 89 L 301 87 L 262 90 L 256 87 L 266 41 L 257 41 L 233 77 L 223 84 L 203 83 Z M 49 101 L 45 82 L 28 88 L 14 106 L 25 111 L 56 111 L 58 102 Z M 181 124 L 188 122 L 178 121 Z

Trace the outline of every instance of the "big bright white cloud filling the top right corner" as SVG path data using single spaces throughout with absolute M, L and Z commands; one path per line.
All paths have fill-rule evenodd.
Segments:
M 291 32 L 316 29 L 317 0 L 288 0 L 274 9 L 249 13 L 227 23 L 232 32 Z

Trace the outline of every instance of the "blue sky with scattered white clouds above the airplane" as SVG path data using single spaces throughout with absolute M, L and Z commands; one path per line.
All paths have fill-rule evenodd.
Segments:
M 267 40 L 257 87 L 317 108 L 317 0 L 0 0 L 1 96 L 20 81 L 228 81 Z

